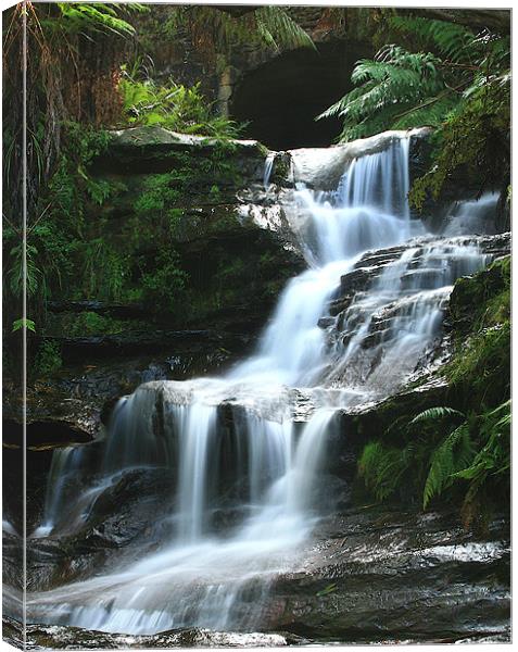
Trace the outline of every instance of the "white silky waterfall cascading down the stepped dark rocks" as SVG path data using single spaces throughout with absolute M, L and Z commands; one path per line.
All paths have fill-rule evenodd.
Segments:
M 487 262 L 466 242 L 430 241 L 410 220 L 408 134 L 391 134 L 376 151 L 365 142 L 369 153 L 355 143 L 334 190 L 293 191 L 289 220 L 309 268 L 286 287 L 256 353 L 219 378 L 141 386 L 114 412 L 81 517 L 125 469 L 163 466 L 177 485 L 170 538 L 109 575 L 34 593 L 29 619 L 136 634 L 261 626 L 270 582 L 315 525 L 337 412 L 401 385 L 437 337 L 455 278 Z M 308 150 L 303 164 L 311 167 Z M 331 315 L 341 277 L 370 269 L 381 249 L 396 253 L 368 291 Z M 295 387 L 315 400 L 303 426 L 293 418 Z M 60 496 L 75 462 L 70 452 L 55 456 L 43 534 L 60 534 Z M 222 531 L 215 515 L 224 507 L 233 517 Z

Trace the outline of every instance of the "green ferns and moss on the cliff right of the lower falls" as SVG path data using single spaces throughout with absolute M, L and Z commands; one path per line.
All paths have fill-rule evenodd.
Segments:
M 509 256 L 457 280 L 447 316 L 453 354 L 440 369 L 450 406 L 404 414 L 365 446 L 358 472 L 378 500 L 420 496 L 425 509 L 456 501 L 466 526 L 483 526 L 508 501 L 509 292 Z

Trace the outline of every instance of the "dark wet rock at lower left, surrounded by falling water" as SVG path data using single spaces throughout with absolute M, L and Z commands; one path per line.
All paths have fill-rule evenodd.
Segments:
M 28 529 L 27 567 L 30 590 L 43 590 L 113 569 L 173 540 L 170 521 L 177 478 L 167 468 L 128 471 L 97 486 L 78 478 L 70 509 L 51 535 Z M 93 490 L 92 490 L 93 488 Z M 87 491 L 88 489 L 88 491 Z M 90 498 L 89 498 L 90 496 Z

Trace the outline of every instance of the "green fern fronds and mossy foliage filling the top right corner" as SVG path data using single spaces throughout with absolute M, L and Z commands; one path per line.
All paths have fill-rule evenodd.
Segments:
M 410 203 L 421 210 L 462 170 L 484 187 L 506 186 L 510 174 L 510 52 L 506 35 L 447 21 L 390 15 L 394 37 L 356 63 L 356 88 L 325 111 L 343 118 L 342 141 L 386 129 L 437 127 L 430 171 L 417 179 Z M 416 51 L 417 50 L 417 51 Z

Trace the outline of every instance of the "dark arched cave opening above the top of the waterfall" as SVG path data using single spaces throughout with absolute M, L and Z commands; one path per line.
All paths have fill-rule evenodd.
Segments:
M 315 117 L 352 88 L 355 62 L 369 54 L 364 48 L 334 41 L 280 54 L 243 76 L 232 117 L 249 123 L 248 138 L 275 150 L 328 147 L 340 135 L 341 120 Z

